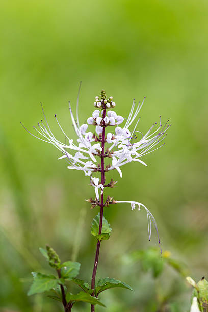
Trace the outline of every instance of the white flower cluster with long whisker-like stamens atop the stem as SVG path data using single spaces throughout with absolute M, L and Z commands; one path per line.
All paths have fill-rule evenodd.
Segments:
M 76 120 L 74 118 L 69 103 L 71 120 L 75 133 L 77 135 L 76 143 L 74 143 L 73 139 L 70 139 L 64 132 L 56 115 L 55 115 L 56 121 L 66 139 L 66 143 L 59 141 L 54 136 L 45 118 L 43 108 L 42 111 L 45 122 L 41 120 L 41 123 L 38 123 L 38 127 L 34 126 L 35 130 L 37 131 L 40 137 L 35 136 L 32 133 L 30 134 L 40 139 L 41 141 L 54 145 L 62 153 L 59 159 L 64 158 L 68 162 L 69 164 L 67 167 L 68 169 L 76 169 L 84 171 L 86 176 L 91 176 L 93 172 L 101 171 L 98 166 L 99 159 L 96 159 L 95 157 L 101 156 L 102 147 L 104 146 L 103 143 L 108 143 L 109 144 L 108 149 L 105 151 L 105 153 L 102 153 L 102 157 L 104 157 L 103 155 L 105 155 L 105 157 L 108 157 L 108 160 L 112 158 L 112 163 L 107 165 L 105 172 L 116 169 L 119 172 L 120 177 L 122 177 L 120 167 L 127 163 L 137 161 L 147 166 L 141 160 L 141 157 L 162 147 L 165 144 L 163 143 L 162 145 L 160 144 L 159 146 L 157 146 L 161 141 L 164 140 L 165 136 L 167 135 L 167 130 L 170 128 L 171 125 L 166 123 L 164 126 L 162 126 L 160 120 L 159 126 L 156 126 L 157 123 L 154 123 L 148 129 L 148 131 L 144 135 L 142 135 L 142 133 L 137 130 L 138 122 L 140 120 L 140 118 L 138 118 L 137 116 L 142 108 L 144 100 L 142 101 L 142 103 L 139 102 L 137 107 L 135 101 L 133 102 L 129 115 L 126 119 L 121 115 L 117 115 L 115 111 L 107 110 L 115 107 L 115 102 L 113 102 L 112 99 L 113 99 L 112 97 L 109 97 L 108 100 L 103 99 L 103 97 L 101 97 L 101 99 L 99 99 L 99 97 L 96 97 L 94 106 L 96 106 L 99 109 L 94 110 L 92 116 L 90 116 L 87 119 L 87 123 L 84 123 L 82 125 L 80 125 L 79 123 L 78 101 L 76 108 Z M 104 112 L 105 116 L 103 117 Z M 121 124 L 123 124 L 124 122 L 124 119 L 125 124 L 121 126 Z M 135 125 L 131 127 L 134 122 Z M 91 131 L 88 131 L 89 126 L 92 127 Z M 95 128 L 93 128 L 94 126 Z M 112 128 L 111 132 L 105 133 L 108 127 L 114 128 Z M 154 127 L 156 129 L 153 131 Z M 105 134 L 104 141 L 102 138 L 103 134 Z M 101 142 L 103 144 L 102 146 L 100 144 Z M 98 188 L 101 188 L 102 194 L 104 185 L 99 184 L 99 178 L 91 177 L 91 182 L 92 182 L 91 184 L 95 188 L 96 198 L 99 199 Z M 137 204 L 139 207 L 140 205 L 142 205 L 139 204 L 138 202 L 133 201 L 129 203 L 131 203 L 132 209 L 135 208 L 135 204 Z M 144 205 L 142 206 L 146 209 Z M 150 222 L 149 235 L 151 235 L 151 221 L 153 222 L 156 229 L 157 225 L 155 223 L 152 214 L 147 209 L 146 212 L 148 218 L 148 228 Z

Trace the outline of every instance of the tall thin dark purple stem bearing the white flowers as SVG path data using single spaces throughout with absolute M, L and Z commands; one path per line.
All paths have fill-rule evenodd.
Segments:
M 102 151 L 101 151 L 101 184 L 105 184 L 105 168 L 104 168 L 104 157 L 105 157 L 105 122 L 103 119 L 106 117 L 106 106 L 103 110 L 103 115 L 102 115 L 102 122 L 103 122 L 103 128 L 102 128 Z M 102 233 L 102 219 L 103 219 L 103 196 L 104 192 L 100 195 L 100 221 L 99 221 L 99 234 Z M 97 241 L 97 248 L 96 248 L 96 254 L 95 254 L 95 262 L 94 262 L 94 267 L 93 267 L 93 272 L 92 272 L 92 281 L 91 281 L 91 289 L 93 289 L 92 296 L 95 295 L 95 277 L 96 277 L 96 272 L 97 272 L 97 264 L 98 264 L 98 259 L 99 259 L 99 250 L 100 250 L 100 243 L 101 241 Z M 94 312 L 95 306 L 91 304 L 91 312 Z

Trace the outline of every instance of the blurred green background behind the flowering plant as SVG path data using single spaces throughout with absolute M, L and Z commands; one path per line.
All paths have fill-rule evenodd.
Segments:
M 118 184 L 108 193 L 144 203 L 157 220 L 163 251 L 195 280 L 206 276 L 207 2 L 3 0 L 0 10 L 0 310 L 62 311 L 45 295 L 26 295 L 30 272 L 48 270 L 38 251 L 46 243 L 63 261 L 76 258 L 82 263 L 79 277 L 91 279 L 96 242 L 90 224 L 97 209 L 85 202 L 94 196 L 89 178 L 67 170 L 65 161 L 57 161 L 58 150 L 20 125 L 33 129 L 42 119 L 42 101 L 55 134 L 63 140 L 56 113 L 75 139 L 68 100 L 75 108 L 80 80 L 82 122 L 102 88 L 125 117 L 133 98 L 147 97 L 141 132 L 160 114 L 163 122 L 171 119 L 167 144 L 143 158 L 148 167 L 128 164 L 122 179 L 112 172 Z M 166 265 L 160 277 L 152 276 L 160 250 L 146 263 L 150 271 L 131 260 L 133 251 L 157 246 L 154 231 L 148 241 L 146 213 L 123 204 L 106 209 L 105 216 L 113 234 L 102 243 L 97 277 L 114 277 L 134 289 L 101 295 L 106 310 L 188 311 L 191 289 L 181 274 Z M 89 309 L 77 304 L 73 310 Z

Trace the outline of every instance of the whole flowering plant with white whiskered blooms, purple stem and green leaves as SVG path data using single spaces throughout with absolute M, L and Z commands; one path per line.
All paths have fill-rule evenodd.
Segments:
M 71 261 L 61 263 L 57 253 L 51 247 L 47 246 L 46 250 L 41 248 L 40 251 L 47 258 L 49 265 L 56 269 L 58 278 L 54 275 L 33 273 L 34 280 L 29 290 L 29 295 L 52 291 L 54 294 L 50 295 L 50 297 L 61 301 L 65 312 L 71 311 L 73 305 L 78 301 L 90 303 L 91 311 L 94 311 L 95 304 L 103 305 L 100 300 L 97 299 L 102 291 L 113 287 L 122 287 L 132 290 L 129 285 L 114 278 L 101 278 L 97 284 L 95 284 L 95 278 L 101 242 L 102 240 L 108 240 L 112 231 L 110 224 L 103 216 L 105 207 L 119 203 L 129 203 L 131 204 L 132 210 L 134 210 L 136 206 L 138 210 L 140 210 L 141 207 L 144 208 L 147 213 L 149 240 L 151 238 L 152 223 L 158 234 L 155 219 L 144 204 L 134 200 L 115 200 L 110 196 L 107 196 L 106 200 L 104 200 L 105 189 L 108 187 L 113 188 L 117 183 L 117 181 L 113 181 L 113 179 L 106 182 L 106 175 L 111 172 L 111 170 L 117 170 L 120 177 L 122 177 L 121 167 L 127 163 L 136 161 L 147 166 L 141 158 L 165 144 L 160 144 L 160 142 L 166 137 L 167 130 L 171 125 L 166 123 L 162 126 L 161 119 L 160 124 L 157 125 L 157 123 L 154 123 L 145 135 L 141 136 L 141 132 L 137 130 L 140 120 L 138 114 L 143 106 L 144 100 L 141 103 L 139 102 L 137 106 L 135 101 L 133 101 L 131 110 L 126 119 L 121 115 L 117 115 L 114 110 L 116 103 L 113 101 L 113 97 L 107 97 L 106 92 L 102 90 L 101 95 L 95 97 L 94 107 L 96 109 L 93 111 L 92 115 L 88 117 L 87 123 L 80 125 L 78 116 L 78 96 L 76 117 L 74 117 L 72 113 L 69 102 L 71 120 L 77 135 L 77 142 L 75 143 L 64 132 L 55 115 L 58 126 L 64 134 L 66 142 L 63 143 L 56 139 L 48 125 L 42 107 L 45 121 L 43 122 L 41 120 L 37 127 L 34 126 L 38 135 L 31 134 L 41 141 L 54 145 L 61 153 L 59 160 L 65 159 L 68 163 L 68 169 L 81 170 L 84 172 L 85 176 L 90 177 L 90 185 L 94 187 L 95 198 L 93 199 L 91 197 L 87 201 L 91 204 L 92 208 L 98 207 L 100 212 L 93 219 L 91 226 L 91 234 L 97 240 L 91 285 L 76 278 L 80 269 L 79 263 Z M 122 124 L 124 124 L 123 127 L 121 127 Z M 89 127 L 91 131 L 88 131 Z M 108 129 L 110 129 L 110 131 L 108 131 Z M 140 139 L 137 133 L 140 134 Z M 108 144 L 107 148 L 106 144 Z M 105 159 L 108 159 L 110 163 L 105 165 Z M 94 176 L 97 173 L 101 175 L 101 179 L 100 177 Z M 160 244 L 159 234 L 158 241 Z M 68 282 L 79 285 L 82 291 L 76 295 L 71 294 L 68 290 Z

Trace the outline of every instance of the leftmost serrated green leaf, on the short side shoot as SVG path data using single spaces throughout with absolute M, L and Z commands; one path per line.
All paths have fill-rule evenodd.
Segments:
M 57 287 L 59 283 L 61 283 L 61 280 L 57 279 L 54 275 L 37 273 L 34 276 L 33 283 L 28 292 L 28 296 L 49 291 Z

